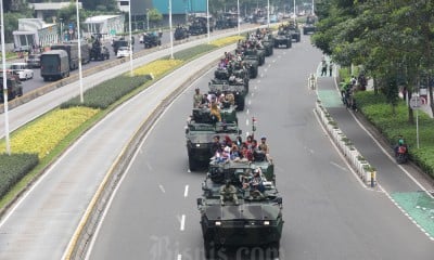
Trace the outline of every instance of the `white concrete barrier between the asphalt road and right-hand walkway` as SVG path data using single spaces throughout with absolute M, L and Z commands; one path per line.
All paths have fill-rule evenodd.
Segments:
M 339 147 L 340 152 L 345 156 L 353 170 L 357 173 L 360 180 L 370 187 L 376 185 L 376 170 L 368 160 L 356 150 L 352 141 L 341 131 L 336 121 L 333 120 L 321 101 L 317 100 L 315 112 L 319 116 L 327 132 Z

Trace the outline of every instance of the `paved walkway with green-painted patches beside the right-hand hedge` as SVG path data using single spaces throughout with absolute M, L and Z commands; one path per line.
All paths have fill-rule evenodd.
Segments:
M 317 73 L 318 75 L 320 74 Z M 372 84 L 369 88 L 371 89 Z M 381 143 L 381 141 L 378 139 L 381 136 L 370 135 L 357 121 L 357 118 L 360 117 L 355 117 L 354 112 L 343 105 L 333 77 L 318 76 L 317 91 L 318 98 L 337 122 L 340 129 L 352 140 L 360 154 L 376 168 L 378 183 L 381 188 L 418 224 L 422 232 L 434 239 L 434 187 L 432 182 L 420 178 L 417 170 L 411 171 L 410 165 L 401 167 L 395 162 L 392 147 L 380 146 L 379 142 Z M 384 143 L 382 144 L 384 145 Z

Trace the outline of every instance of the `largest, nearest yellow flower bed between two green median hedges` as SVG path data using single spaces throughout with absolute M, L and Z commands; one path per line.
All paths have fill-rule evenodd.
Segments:
M 39 158 L 48 155 L 65 136 L 94 116 L 99 109 L 72 107 L 54 109 L 38 120 L 11 134 L 12 153 L 35 153 Z M 0 142 L 0 151 L 5 151 L 5 140 Z

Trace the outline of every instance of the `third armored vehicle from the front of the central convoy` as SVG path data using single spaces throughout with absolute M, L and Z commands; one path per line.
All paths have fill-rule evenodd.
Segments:
M 232 93 L 237 110 L 244 110 L 245 96 L 248 92 L 248 87 L 244 83 L 243 79 L 234 78 L 233 80 L 213 79 L 208 82 L 209 92 L 216 95 L 221 93 Z

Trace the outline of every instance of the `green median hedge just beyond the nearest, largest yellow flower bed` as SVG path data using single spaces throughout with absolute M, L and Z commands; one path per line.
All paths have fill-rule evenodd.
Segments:
M 132 90 L 143 86 L 149 80 L 152 80 L 150 75 L 144 76 L 127 76 L 123 75 L 113 79 L 101 82 L 100 84 L 88 89 L 84 93 L 84 103 L 80 98 L 76 96 L 61 104 L 61 108 L 72 106 L 87 106 L 92 108 L 105 109 L 117 100 L 128 94 Z

